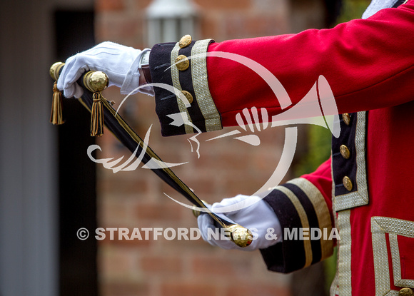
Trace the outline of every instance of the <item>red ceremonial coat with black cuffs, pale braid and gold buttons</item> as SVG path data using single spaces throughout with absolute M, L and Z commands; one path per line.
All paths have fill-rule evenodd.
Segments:
M 338 228 L 333 294 L 398 295 L 402 287 L 414 289 L 414 0 L 334 29 L 154 46 L 153 82 L 191 95 L 186 108 L 175 95 L 155 88 L 164 136 L 193 132 L 171 125 L 171 113 L 187 114 L 201 131 L 214 131 L 235 126 L 243 108 L 267 108 L 270 115 L 284 111 L 266 81 L 241 63 L 208 57 L 191 58 L 187 69 L 171 66 L 178 55 L 206 52 L 237 53 L 261 63 L 281 81 L 293 105 L 318 76 L 327 78 L 339 113 L 350 113 L 349 124 L 340 116 L 332 158 L 315 173 L 278 186 L 265 200 L 282 228 Z M 343 185 L 345 176 L 352 188 Z M 270 270 L 291 272 L 323 260 L 332 249 L 331 240 L 284 238 L 261 252 Z

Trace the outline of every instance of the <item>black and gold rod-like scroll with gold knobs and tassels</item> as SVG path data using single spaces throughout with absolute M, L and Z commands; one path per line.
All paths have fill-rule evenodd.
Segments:
M 51 123 L 61 124 L 62 109 L 61 109 L 61 93 L 56 87 L 56 81 L 59 78 L 61 69 L 64 63 L 54 63 L 50 70 L 50 76 L 54 79 L 54 96 L 51 111 Z M 123 143 L 128 150 L 141 158 L 142 163 L 148 163 L 151 159 L 158 160 L 162 163 L 161 158 L 147 146 L 138 134 L 123 120 L 123 118 L 112 107 L 113 103 L 107 101 L 102 96 L 103 91 L 108 86 L 108 76 L 101 71 L 89 71 L 85 73 L 77 81 L 80 86 L 84 88 L 84 95 L 79 98 L 79 102 L 91 111 L 91 136 L 101 136 L 104 133 L 103 126 L 113 133 L 118 140 Z M 137 148 L 138 146 L 138 148 Z M 223 217 L 219 217 L 208 209 L 205 203 L 193 193 L 193 190 L 183 183 L 175 173 L 166 165 L 159 168 L 151 168 L 151 170 L 164 180 L 168 185 L 181 193 L 187 200 L 198 208 L 203 208 L 203 211 L 210 215 L 213 220 L 226 230 L 226 233 L 231 238 L 233 243 L 239 247 L 247 247 L 253 241 L 253 234 L 247 228 L 232 223 Z

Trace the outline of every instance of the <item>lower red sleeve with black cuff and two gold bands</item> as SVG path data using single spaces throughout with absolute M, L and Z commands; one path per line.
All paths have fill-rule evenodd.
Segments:
M 264 198 L 278 216 L 283 233 L 281 243 L 261 250 L 268 270 L 293 272 L 333 254 L 331 197 L 327 160 L 314 173 L 278 185 Z

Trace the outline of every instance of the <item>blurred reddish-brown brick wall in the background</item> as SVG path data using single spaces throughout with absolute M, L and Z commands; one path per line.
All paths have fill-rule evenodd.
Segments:
M 195 2 L 201 13 L 200 38 L 222 41 L 293 30 L 288 0 Z M 97 0 L 97 40 L 140 49 L 150 46 L 145 33 L 145 9 L 149 3 L 150 0 Z M 117 103 L 123 98 L 118 89 L 108 89 L 104 96 Z M 139 94 L 128 99 L 121 113 L 141 136 L 153 125 L 149 143 L 163 160 L 188 162 L 174 171 L 203 200 L 213 203 L 238 193 L 252 194 L 278 163 L 283 128 L 263 131 L 258 147 L 232 138 L 206 142 L 223 131 L 203 134 L 198 137 L 198 158 L 191 152 L 188 136 L 160 136 L 154 108 L 153 98 Z M 100 158 L 130 155 L 108 132 L 99 144 L 103 149 Z M 150 170 L 112 173 L 98 165 L 98 171 L 99 227 L 196 228 L 191 210 L 169 200 L 164 193 L 185 200 Z M 109 240 L 106 234 L 107 238 L 99 241 L 99 286 L 104 296 L 291 295 L 290 276 L 268 272 L 259 252 L 221 250 L 202 239 Z

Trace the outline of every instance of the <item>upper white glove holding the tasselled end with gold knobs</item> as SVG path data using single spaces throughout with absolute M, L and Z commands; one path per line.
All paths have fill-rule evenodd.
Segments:
M 138 66 L 141 66 L 141 55 L 146 51 L 150 49 L 140 51 L 109 41 L 102 42 L 68 58 L 57 86 L 64 91 L 66 98 L 80 98 L 84 91 L 76 83 L 79 77 L 86 71 L 103 71 L 108 75 L 108 86 L 120 87 L 123 94 L 131 93 L 139 86 Z

